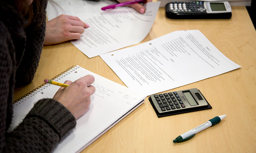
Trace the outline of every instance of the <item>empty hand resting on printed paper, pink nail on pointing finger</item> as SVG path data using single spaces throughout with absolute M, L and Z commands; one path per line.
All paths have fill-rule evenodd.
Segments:
M 54 45 L 72 39 L 79 39 L 84 28 L 89 26 L 78 17 L 60 15 L 46 22 L 44 45 Z

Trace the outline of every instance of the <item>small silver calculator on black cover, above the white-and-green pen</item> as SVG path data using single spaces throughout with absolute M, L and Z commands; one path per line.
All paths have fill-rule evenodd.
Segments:
M 212 108 L 197 88 L 151 95 L 148 100 L 158 117 Z

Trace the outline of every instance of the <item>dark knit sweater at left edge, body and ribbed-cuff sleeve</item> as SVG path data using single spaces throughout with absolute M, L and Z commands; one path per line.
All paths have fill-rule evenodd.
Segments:
M 13 6 L 6 2 L 0 5 L 0 152 L 51 152 L 76 125 L 66 107 L 53 99 L 42 99 L 17 128 L 7 132 L 14 87 L 32 81 L 42 52 L 47 1 L 38 2 L 43 12 L 26 28 L 26 20 Z

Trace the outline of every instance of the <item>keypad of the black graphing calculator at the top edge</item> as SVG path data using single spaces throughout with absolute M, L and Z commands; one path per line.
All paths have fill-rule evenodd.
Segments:
M 170 10 L 174 12 L 205 12 L 202 1 L 193 2 L 172 2 L 169 4 Z

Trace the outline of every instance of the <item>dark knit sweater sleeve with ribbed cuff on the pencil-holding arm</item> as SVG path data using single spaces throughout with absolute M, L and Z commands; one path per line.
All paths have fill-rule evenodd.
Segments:
M 53 99 L 39 100 L 23 122 L 6 133 L 4 152 L 51 152 L 75 125 L 65 106 Z

